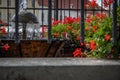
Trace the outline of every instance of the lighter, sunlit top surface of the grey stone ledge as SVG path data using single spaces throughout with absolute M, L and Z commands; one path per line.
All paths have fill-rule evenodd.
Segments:
M 4 66 L 120 66 L 120 60 L 89 58 L 0 58 Z

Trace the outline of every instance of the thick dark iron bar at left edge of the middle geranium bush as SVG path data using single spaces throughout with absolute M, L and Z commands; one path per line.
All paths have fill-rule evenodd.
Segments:
M 52 19 L 52 0 L 48 0 L 48 43 L 51 43 L 52 36 L 51 36 L 51 21 Z

